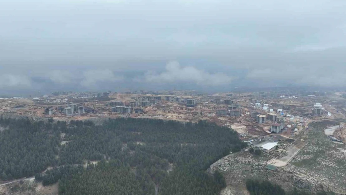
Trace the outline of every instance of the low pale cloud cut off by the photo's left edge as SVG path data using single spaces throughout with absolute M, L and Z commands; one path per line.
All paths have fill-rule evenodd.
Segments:
M 3 74 L 0 76 L 0 88 L 27 88 L 31 86 L 26 76 Z

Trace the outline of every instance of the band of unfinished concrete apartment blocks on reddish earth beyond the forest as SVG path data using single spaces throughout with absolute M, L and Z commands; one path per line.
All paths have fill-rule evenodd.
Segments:
M 242 139 L 273 133 L 295 138 L 312 121 L 342 120 L 346 113 L 340 94 L 310 97 L 274 93 L 148 92 L 152 94 L 65 92 L 31 99 L 2 98 L 0 113 L 67 121 L 99 117 L 160 118 L 181 122 L 204 120 L 245 134 Z M 336 142 L 344 141 L 340 131 L 328 136 Z

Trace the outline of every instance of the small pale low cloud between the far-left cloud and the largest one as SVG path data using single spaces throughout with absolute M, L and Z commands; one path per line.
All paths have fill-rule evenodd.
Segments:
M 124 80 L 123 76 L 116 76 L 109 69 L 104 70 L 88 70 L 83 72 L 83 80 L 81 85 L 84 87 L 96 86 L 100 82 L 117 82 Z

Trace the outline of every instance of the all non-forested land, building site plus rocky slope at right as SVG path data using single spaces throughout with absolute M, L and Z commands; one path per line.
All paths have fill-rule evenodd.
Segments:
M 286 188 L 346 193 L 340 171 L 346 159 L 346 100 L 328 96 L 277 93 L 197 94 L 191 91 L 138 93 L 56 93 L 38 98 L 1 98 L 0 115 L 60 121 L 115 117 L 208 121 L 235 130 L 247 143 L 208 171 L 227 181 L 221 194 L 244 192 L 244 179 L 266 177 Z M 254 156 L 250 150 L 260 150 Z M 344 169 L 343 169 L 344 170 Z M 337 185 L 331 185 L 337 184 Z

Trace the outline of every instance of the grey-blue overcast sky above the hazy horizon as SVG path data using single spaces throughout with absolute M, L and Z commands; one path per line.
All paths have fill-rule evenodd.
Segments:
M 345 86 L 345 10 L 345 0 L 0 0 L 0 94 Z

